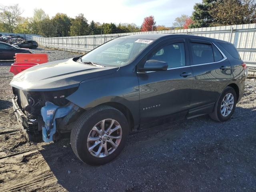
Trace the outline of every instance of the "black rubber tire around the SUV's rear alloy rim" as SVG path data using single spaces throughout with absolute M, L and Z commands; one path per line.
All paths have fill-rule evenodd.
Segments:
M 228 113 L 224 112 L 224 114 L 222 114 L 222 101 L 224 100 L 224 97 L 225 96 L 228 96 L 228 95 L 232 95 L 233 98 L 234 98 L 234 103 L 233 103 L 233 106 L 231 108 L 231 111 Z M 230 99 L 232 98 L 232 96 L 230 96 Z M 226 87 L 223 92 L 220 94 L 217 102 L 215 103 L 214 105 L 214 110 L 210 115 L 210 117 L 215 120 L 215 121 L 218 121 L 218 122 L 224 122 L 228 119 L 231 118 L 231 116 L 233 115 L 234 113 L 234 110 L 236 108 L 236 102 L 237 102 L 237 95 L 236 95 L 236 91 L 232 88 L 232 87 Z M 232 103 L 232 102 L 231 102 Z M 227 107 L 228 108 L 228 107 Z M 230 108 L 228 108 L 230 110 Z M 226 113 L 226 114 L 225 114 Z

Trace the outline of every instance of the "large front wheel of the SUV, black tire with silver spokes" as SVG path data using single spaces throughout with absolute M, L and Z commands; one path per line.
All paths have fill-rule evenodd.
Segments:
M 107 136 L 107 132 L 105 132 L 104 136 L 101 135 L 100 133 L 102 132 L 100 132 L 100 128 L 102 124 L 106 126 L 105 131 L 107 131 L 110 127 L 112 120 L 114 124 L 112 125 L 109 133 L 111 133 L 112 130 L 118 128 L 118 124 L 121 127 L 111 133 L 116 134 L 116 136 L 113 136 L 111 134 Z M 98 131 L 95 131 L 95 127 Z M 92 128 L 94 129 L 92 130 Z M 98 132 L 100 133 L 98 134 Z M 92 136 L 92 134 L 94 136 L 90 138 L 100 138 L 101 140 L 88 142 L 89 135 Z M 124 114 L 122 114 L 122 112 L 110 106 L 98 106 L 90 110 L 89 112 L 84 112 L 78 118 L 78 120 L 76 120 L 74 128 L 71 131 L 70 143 L 72 146 L 72 150 L 82 162 L 90 165 L 102 165 L 112 161 L 120 154 L 125 146 L 128 134 L 128 121 Z M 118 137 L 118 139 L 112 139 L 110 137 Z M 90 152 L 89 149 L 92 148 L 92 146 L 94 146 L 96 142 L 100 142 L 100 144 L 94 147 L 93 150 Z M 112 142 L 115 144 L 115 146 L 117 146 L 116 148 L 114 148 L 114 146 L 112 147 Z M 104 143 L 106 144 L 106 146 L 104 146 Z M 102 149 L 100 149 L 101 146 Z M 105 147 L 107 146 L 109 149 L 105 150 Z M 99 150 L 100 153 L 98 153 Z M 108 152 L 109 154 L 106 155 L 106 153 Z M 97 157 L 98 154 L 100 155 Z

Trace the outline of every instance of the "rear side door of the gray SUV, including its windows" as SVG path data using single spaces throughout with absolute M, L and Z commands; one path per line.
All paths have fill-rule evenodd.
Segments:
M 212 110 L 219 94 L 230 81 L 230 63 L 212 42 L 189 39 L 190 63 L 194 74 L 191 107 Z

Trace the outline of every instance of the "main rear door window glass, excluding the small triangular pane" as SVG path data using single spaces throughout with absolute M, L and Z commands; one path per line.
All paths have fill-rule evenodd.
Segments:
M 194 65 L 214 62 L 212 45 L 191 43 L 191 49 Z

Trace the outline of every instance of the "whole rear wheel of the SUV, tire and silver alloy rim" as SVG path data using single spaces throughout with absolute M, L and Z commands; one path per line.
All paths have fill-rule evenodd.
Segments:
M 210 117 L 219 122 L 230 119 L 236 108 L 236 101 L 236 91 L 232 87 L 225 88 L 215 103 L 214 110 L 210 114 Z

